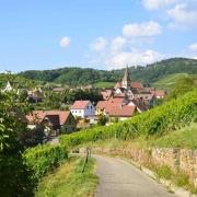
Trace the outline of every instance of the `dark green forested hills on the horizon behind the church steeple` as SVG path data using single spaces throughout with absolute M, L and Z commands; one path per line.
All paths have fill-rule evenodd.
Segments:
M 28 70 L 19 74 L 33 80 L 80 85 L 96 82 L 117 82 L 123 78 L 124 70 L 125 69 L 105 71 L 70 67 L 43 71 Z M 172 58 L 147 67 L 130 67 L 129 70 L 131 80 L 150 84 L 171 73 L 197 73 L 197 60 Z

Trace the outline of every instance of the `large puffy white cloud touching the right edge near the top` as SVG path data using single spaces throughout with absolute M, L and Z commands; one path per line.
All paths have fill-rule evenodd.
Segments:
M 171 28 L 188 30 L 197 26 L 197 10 L 192 10 L 186 3 L 176 4 L 166 13 L 173 20 L 170 23 Z

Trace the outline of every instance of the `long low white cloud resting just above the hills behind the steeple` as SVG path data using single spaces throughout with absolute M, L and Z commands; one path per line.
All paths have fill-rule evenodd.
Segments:
M 137 65 L 147 65 L 154 61 L 161 60 L 163 55 L 158 51 L 148 49 L 146 51 L 127 51 L 127 53 L 117 53 L 112 56 L 108 60 L 105 61 L 106 68 L 119 69 L 124 68 L 126 65 L 137 66 Z

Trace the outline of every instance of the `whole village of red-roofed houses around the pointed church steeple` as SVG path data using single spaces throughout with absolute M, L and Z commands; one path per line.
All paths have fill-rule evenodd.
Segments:
M 166 95 L 164 90 L 143 86 L 141 82 L 132 81 L 128 67 L 125 69 L 121 81 L 118 81 L 112 89 L 95 89 L 89 84 L 76 89 L 70 88 L 67 91 L 74 92 L 76 90 L 86 91 L 90 95 L 92 92 L 97 92 L 100 99 L 93 102 L 90 100 L 67 102 L 66 109 L 35 108 L 24 118 L 27 128 L 37 129 L 42 126 L 43 137 L 48 139 L 51 136 L 71 134 L 96 125 L 111 125 L 152 108 L 157 100 L 163 100 Z M 47 91 L 54 95 L 66 94 L 63 86 L 39 86 L 34 90 L 14 89 L 9 81 L 1 91 L 22 93 L 23 97 L 26 96 L 25 102 L 33 106 L 45 102 Z

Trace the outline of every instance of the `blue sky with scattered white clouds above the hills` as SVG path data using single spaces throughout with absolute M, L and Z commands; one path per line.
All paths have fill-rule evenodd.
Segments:
M 197 0 L 0 0 L 0 71 L 197 59 Z

